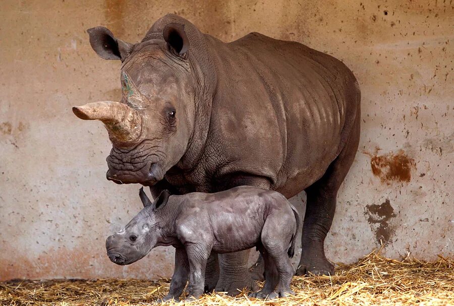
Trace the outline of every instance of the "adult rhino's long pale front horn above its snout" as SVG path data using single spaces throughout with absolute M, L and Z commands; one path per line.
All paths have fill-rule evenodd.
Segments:
M 83 120 L 101 120 L 113 143 L 136 143 L 142 133 L 142 117 L 126 104 L 114 101 L 99 101 L 74 106 L 73 112 Z

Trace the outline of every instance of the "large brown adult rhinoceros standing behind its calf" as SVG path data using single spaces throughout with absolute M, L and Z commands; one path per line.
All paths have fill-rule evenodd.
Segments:
M 153 196 L 239 185 L 287 198 L 305 190 L 297 273 L 333 272 L 323 243 L 360 135 L 360 90 L 343 63 L 259 33 L 224 43 L 176 15 L 135 44 L 103 27 L 88 33 L 100 57 L 122 62 L 120 102 L 73 108 L 107 128 L 107 179 L 150 186 Z M 206 289 L 217 277 L 215 288 L 230 294 L 251 286 L 247 256 L 219 255 L 219 265 L 212 256 Z

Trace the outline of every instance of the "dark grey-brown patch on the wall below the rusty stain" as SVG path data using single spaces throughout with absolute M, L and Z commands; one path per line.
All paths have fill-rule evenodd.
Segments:
M 389 221 L 395 217 L 395 214 L 389 200 L 386 199 L 380 205 L 367 205 L 364 214 L 367 216 L 367 222 L 371 225 L 371 229 L 375 231 L 377 242 L 386 244 L 394 234 Z

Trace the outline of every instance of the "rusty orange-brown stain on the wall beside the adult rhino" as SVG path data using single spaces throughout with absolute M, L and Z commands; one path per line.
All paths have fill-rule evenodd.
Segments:
M 370 156 L 370 167 L 372 173 L 379 177 L 383 183 L 392 181 L 409 182 L 412 178 L 412 169 L 416 168 L 415 160 L 408 157 L 403 150 L 397 153 L 388 153 L 384 155 L 371 154 L 363 152 Z

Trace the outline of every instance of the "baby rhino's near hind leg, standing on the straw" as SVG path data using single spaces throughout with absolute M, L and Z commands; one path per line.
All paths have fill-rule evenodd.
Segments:
M 292 216 L 269 215 L 262 229 L 263 247 L 272 259 L 278 273 L 277 287 L 268 294 L 268 298 L 295 295 L 295 292 L 290 289 L 290 282 L 295 274 L 295 269 L 287 254 L 295 226 L 289 226 L 289 224 L 295 224 L 293 213 Z M 265 266 L 265 273 L 266 269 Z

